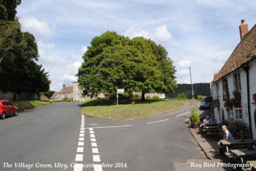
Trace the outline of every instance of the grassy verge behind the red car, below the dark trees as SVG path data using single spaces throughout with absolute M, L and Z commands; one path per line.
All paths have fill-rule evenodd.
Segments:
M 13 103 L 18 107 L 19 111 L 26 109 L 33 109 L 35 107 L 49 105 L 52 102 L 49 101 L 13 101 Z

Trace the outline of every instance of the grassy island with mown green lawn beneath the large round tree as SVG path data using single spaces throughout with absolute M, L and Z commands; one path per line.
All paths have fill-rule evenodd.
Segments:
M 175 110 L 184 106 L 183 102 L 177 101 L 137 101 L 135 105 L 113 105 L 108 100 L 93 100 L 83 103 L 82 113 L 111 120 L 135 119 L 167 111 Z M 100 107 L 100 110 L 98 110 Z

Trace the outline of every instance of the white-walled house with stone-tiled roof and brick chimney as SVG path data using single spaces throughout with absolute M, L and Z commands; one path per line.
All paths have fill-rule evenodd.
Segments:
M 252 104 L 252 94 L 256 93 L 256 25 L 248 32 L 248 25 L 242 20 L 239 28 L 241 41 L 214 76 L 211 93 L 220 102 L 220 107 L 214 109 L 216 118 L 232 122 L 243 120 L 250 127 L 251 138 L 256 139 L 256 110 Z M 241 102 L 225 109 L 224 104 L 234 91 L 240 92 Z

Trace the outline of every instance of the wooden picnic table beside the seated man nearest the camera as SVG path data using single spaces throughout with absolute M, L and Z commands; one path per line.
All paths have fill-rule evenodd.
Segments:
M 255 139 L 234 139 L 234 140 L 220 140 L 221 143 L 223 144 L 223 154 L 225 153 L 225 149 L 227 151 L 227 153 L 229 153 L 229 149 L 228 146 L 229 145 L 233 145 L 233 146 L 238 146 L 238 145 L 252 145 L 256 143 Z

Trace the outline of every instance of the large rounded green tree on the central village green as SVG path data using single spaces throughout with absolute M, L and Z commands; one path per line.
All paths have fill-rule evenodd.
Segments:
M 78 70 L 78 82 L 84 93 L 172 92 L 176 87 L 175 67 L 166 50 L 152 40 L 130 39 L 116 32 L 94 37 Z M 144 97 L 144 95 L 142 95 Z

